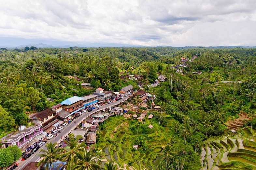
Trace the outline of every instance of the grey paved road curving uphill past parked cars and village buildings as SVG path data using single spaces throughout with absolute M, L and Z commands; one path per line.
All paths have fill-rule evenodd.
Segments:
M 129 97 L 130 97 L 130 95 L 128 95 L 128 96 L 122 98 L 122 99 L 119 100 L 119 101 L 114 101 L 113 103 L 110 103 L 110 104 L 106 104 L 106 105 L 104 105 L 104 106 L 101 106 L 101 107 L 99 107 L 99 110 L 96 110 L 96 111 L 93 110 L 93 111 L 91 111 L 91 112 L 85 112 L 85 113 L 82 114 L 80 117 L 78 117 L 77 119 L 75 119 L 75 120 L 76 120 L 76 123 L 74 123 L 74 121 L 72 121 L 67 127 L 64 127 L 64 129 L 63 129 L 60 133 L 58 133 L 58 135 L 57 135 L 56 137 L 55 137 L 55 135 L 54 135 L 54 137 L 51 138 L 50 140 L 47 140 L 47 142 L 52 142 L 52 143 L 58 142 L 58 143 L 60 143 L 60 142 L 62 141 L 61 136 L 62 136 L 63 139 L 64 139 L 64 138 L 70 133 L 71 130 L 74 130 L 74 129 L 83 121 L 83 119 L 86 119 L 87 117 L 91 116 L 91 115 L 92 115 L 93 113 L 95 113 L 95 112 L 101 111 L 101 110 L 106 109 L 106 108 L 108 108 L 108 107 L 110 107 L 110 106 L 118 105 L 118 104 L 120 104 L 122 101 L 127 100 Z M 83 117 L 84 117 L 84 118 L 83 118 Z M 38 155 L 36 155 L 36 154 L 38 154 L 41 149 L 46 150 L 45 145 L 43 145 L 36 153 L 32 154 L 28 159 L 26 159 L 25 161 L 21 161 L 21 162 L 19 163 L 19 166 L 16 168 L 16 170 L 22 169 L 22 168 L 23 168 L 26 164 L 28 164 L 29 162 L 38 162 L 39 159 L 40 159 L 40 157 L 39 157 Z

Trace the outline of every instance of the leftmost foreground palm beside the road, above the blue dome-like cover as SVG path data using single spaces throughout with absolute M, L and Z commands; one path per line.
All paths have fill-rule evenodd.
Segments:
M 43 158 L 38 162 L 38 166 L 46 164 L 46 167 L 50 167 L 51 170 L 52 164 L 57 161 L 57 154 L 59 153 L 59 149 L 55 148 L 56 145 L 57 143 L 46 143 L 46 150 L 41 149 L 41 154 L 38 154 L 40 158 Z

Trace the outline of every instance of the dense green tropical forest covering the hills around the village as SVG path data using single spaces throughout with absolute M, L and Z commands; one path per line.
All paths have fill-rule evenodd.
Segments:
M 153 154 L 153 145 L 160 146 L 159 169 L 199 169 L 203 142 L 230 134 L 225 123 L 237 119 L 241 110 L 251 119 L 243 126 L 256 128 L 255 48 L 1 48 L 0 68 L 2 136 L 26 125 L 30 113 L 68 97 L 88 95 L 98 87 L 119 92 L 131 84 L 138 90 L 136 81 L 120 79 L 131 74 L 141 74 L 143 90 L 156 96 L 154 103 L 160 110 L 153 113 L 154 128 L 137 128 L 137 121 L 119 117 L 100 128 L 113 131 L 114 123 L 127 121 L 123 130 L 139 135 L 125 135 L 123 142 L 138 144 L 138 154 Z M 149 88 L 158 74 L 166 81 Z M 91 83 L 93 89 L 84 89 L 81 83 Z M 111 141 L 110 134 L 101 140 Z M 140 158 L 129 159 L 133 165 Z

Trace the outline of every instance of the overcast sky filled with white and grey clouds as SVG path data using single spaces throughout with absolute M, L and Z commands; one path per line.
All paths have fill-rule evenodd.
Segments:
M 256 46 L 255 6 L 255 0 L 2 0 L 0 37 L 38 43 Z

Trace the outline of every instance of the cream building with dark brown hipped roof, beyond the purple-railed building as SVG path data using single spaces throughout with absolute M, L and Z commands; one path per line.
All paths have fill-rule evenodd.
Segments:
M 49 108 L 41 112 L 29 115 L 29 118 L 33 123 L 42 125 L 43 130 L 46 130 L 53 124 L 57 123 L 59 121 L 57 117 L 58 114 Z

